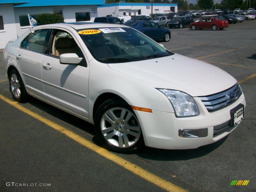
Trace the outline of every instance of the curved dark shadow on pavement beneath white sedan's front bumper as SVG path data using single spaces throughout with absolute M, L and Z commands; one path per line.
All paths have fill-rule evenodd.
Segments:
M 143 150 L 136 152 L 135 154 L 141 158 L 157 160 L 157 161 L 184 161 L 188 159 L 194 159 L 205 156 L 215 149 L 217 149 L 222 143 L 226 141 L 229 135 L 221 140 L 201 146 L 196 149 L 187 150 L 163 150 L 152 147 L 145 147 Z

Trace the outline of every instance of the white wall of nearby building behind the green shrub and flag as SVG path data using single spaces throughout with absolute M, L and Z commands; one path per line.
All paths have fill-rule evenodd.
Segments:
M 79 6 L 44 6 L 44 7 L 16 7 L 14 8 L 15 14 L 15 25 L 17 29 L 17 35 L 22 35 L 25 31 L 27 31 L 30 27 L 20 27 L 19 24 L 19 16 L 20 15 L 36 15 L 41 13 L 53 13 L 54 9 L 62 8 L 63 9 L 63 17 L 64 22 L 76 22 L 76 13 L 77 12 L 90 12 L 90 17 L 98 17 L 97 13 L 92 14 L 91 8 L 97 8 L 95 5 L 79 5 Z

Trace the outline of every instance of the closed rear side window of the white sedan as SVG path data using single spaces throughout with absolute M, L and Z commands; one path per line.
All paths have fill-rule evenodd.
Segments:
M 36 30 L 30 33 L 21 43 L 20 48 L 45 53 L 45 38 L 49 33 L 49 29 Z

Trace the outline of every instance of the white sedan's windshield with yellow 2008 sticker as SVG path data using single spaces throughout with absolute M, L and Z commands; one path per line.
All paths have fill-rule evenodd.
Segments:
M 174 53 L 128 28 L 77 29 L 92 56 L 102 63 L 122 63 L 166 57 Z

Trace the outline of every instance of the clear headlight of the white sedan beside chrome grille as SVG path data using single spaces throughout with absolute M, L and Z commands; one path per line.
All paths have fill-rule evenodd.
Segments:
M 181 91 L 158 89 L 166 95 L 173 105 L 177 117 L 187 117 L 199 115 L 199 110 L 194 99 Z

